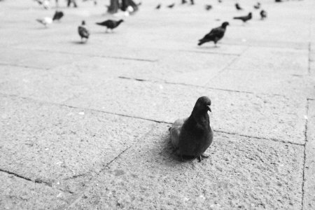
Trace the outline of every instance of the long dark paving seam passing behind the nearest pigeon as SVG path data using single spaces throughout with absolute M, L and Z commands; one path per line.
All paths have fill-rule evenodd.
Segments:
M 122 117 L 126 117 L 126 118 L 135 118 L 135 119 L 140 119 L 140 120 L 148 120 L 151 122 L 155 122 L 155 123 L 165 123 L 168 125 L 172 125 L 172 122 L 167 122 L 167 121 L 163 121 L 163 120 L 154 120 L 154 119 L 150 119 L 150 118 L 141 118 L 138 116 L 130 116 L 130 115 L 126 115 L 126 114 L 122 114 L 122 113 L 113 113 L 110 111 L 103 111 L 103 110 L 98 110 L 98 109 L 90 109 L 90 108 L 85 108 L 85 107 L 79 107 L 79 106 L 70 106 L 70 105 L 66 105 L 66 104 L 57 104 L 57 103 L 53 103 L 53 102 L 45 102 L 45 101 L 39 101 L 36 99 L 32 99 L 29 97 L 21 97 L 19 95 L 15 95 L 15 94 L 3 94 L 0 92 L 0 94 L 6 96 L 6 97 L 18 97 L 21 99 L 27 99 L 33 102 L 37 102 L 37 103 L 43 103 L 43 104 L 51 104 L 51 105 L 55 105 L 55 106 L 64 106 L 64 107 L 69 107 L 72 109 L 84 109 L 84 110 L 88 110 L 88 111 L 94 111 L 94 112 L 99 112 L 99 113 L 107 113 L 107 114 L 111 114 L 111 115 L 115 115 L 115 116 L 122 116 Z M 293 144 L 293 145 L 297 145 L 297 146 L 303 146 L 304 144 L 298 144 L 298 143 L 294 143 L 294 142 L 290 142 L 290 141 L 284 141 L 282 139 L 274 139 L 274 138 L 263 138 L 263 137 L 255 137 L 255 136 L 249 136 L 249 135 L 245 135 L 245 134 L 238 134 L 236 132 L 226 132 L 223 130 L 214 130 L 214 132 L 220 132 L 220 133 L 225 133 L 225 134 L 232 134 L 235 136 L 239 136 L 239 137 L 248 137 L 248 138 L 252 138 L 252 139 L 265 139 L 265 140 L 269 140 L 269 141 L 276 141 L 276 142 L 281 142 L 283 144 Z

